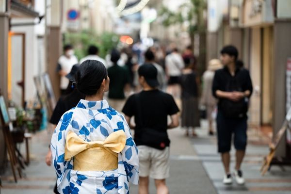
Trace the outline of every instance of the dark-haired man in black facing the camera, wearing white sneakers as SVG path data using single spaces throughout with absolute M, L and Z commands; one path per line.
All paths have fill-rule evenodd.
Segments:
M 232 183 L 229 170 L 231 139 L 234 135 L 236 164 L 234 177 L 238 184 L 244 184 L 241 164 L 247 144 L 248 101 L 253 87 L 249 71 L 237 65 L 238 51 L 233 46 L 221 50 L 223 69 L 215 72 L 212 93 L 219 99 L 217 113 L 218 152 L 225 168 L 224 184 Z

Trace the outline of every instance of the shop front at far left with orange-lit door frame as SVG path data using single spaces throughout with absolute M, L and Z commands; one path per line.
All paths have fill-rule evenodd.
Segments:
M 33 95 L 31 69 L 33 69 L 34 61 L 31 56 L 36 50 L 33 50 L 31 34 L 26 30 L 33 28 L 31 26 L 34 19 L 39 16 L 33 10 L 33 6 L 33 0 L 9 2 L 0 0 L 0 90 L 6 107 L 11 104 L 8 102 L 13 102 L 17 107 L 24 107 L 25 101 Z M 14 20 L 17 23 L 14 23 Z M 18 21 L 21 21 L 21 24 L 29 24 L 27 25 L 29 27 L 18 27 L 17 31 L 13 26 L 19 25 Z M 0 169 L 3 169 L 7 162 L 2 129 L 3 126 L 0 129 Z

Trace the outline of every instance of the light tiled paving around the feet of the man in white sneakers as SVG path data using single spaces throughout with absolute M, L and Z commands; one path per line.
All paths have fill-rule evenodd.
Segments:
M 202 161 L 218 194 L 291 194 L 291 168 L 284 167 L 282 171 L 278 166 L 273 166 L 264 177 L 260 175 L 262 159 L 268 154 L 268 138 L 264 137 L 257 129 L 248 129 L 248 146 L 246 157 L 242 164 L 242 171 L 246 184 L 239 186 L 236 183 L 225 186 L 222 183 L 224 169 L 217 154 L 216 137 L 206 135 L 207 124 L 202 122 L 202 127 L 197 131 L 198 138 L 192 139 L 192 145 L 197 157 Z M 231 152 L 231 170 L 234 169 L 234 150 Z

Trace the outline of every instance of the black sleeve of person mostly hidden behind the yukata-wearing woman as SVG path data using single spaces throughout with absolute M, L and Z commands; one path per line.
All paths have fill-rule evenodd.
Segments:
M 84 98 L 85 96 L 82 95 L 77 89 L 74 89 L 73 92 L 64 97 L 60 97 L 55 109 L 53 110 L 49 122 L 53 125 L 57 125 L 62 115 L 68 110 L 76 107 L 78 102 Z

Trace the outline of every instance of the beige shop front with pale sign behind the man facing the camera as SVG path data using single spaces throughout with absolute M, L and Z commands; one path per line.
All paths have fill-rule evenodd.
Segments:
M 250 104 L 250 125 L 271 128 L 274 86 L 274 12 L 272 0 L 244 0 L 240 25 L 243 27 L 243 57 L 254 86 Z

